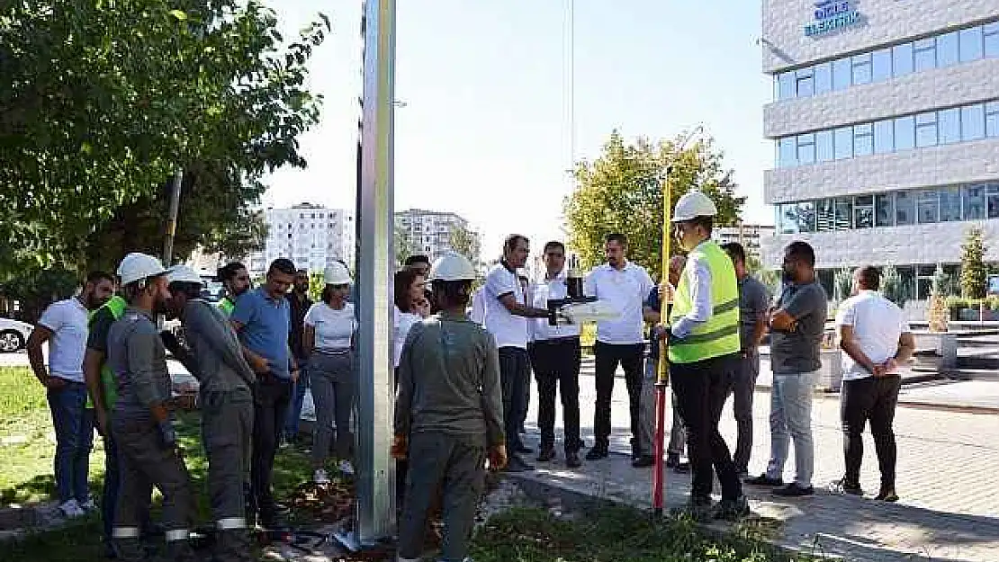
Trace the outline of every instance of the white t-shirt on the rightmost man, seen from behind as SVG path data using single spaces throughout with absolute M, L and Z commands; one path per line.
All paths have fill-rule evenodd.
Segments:
M 909 322 L 902 309 L 876 290 L 861 290 L 839 305 L 836 326 L 853 326 L 853 334 L 860 349 L 876 364 L 894 357 L 898 352 L 898 338 L 909 331 Z M 843 380 L 858 380 L 872 376 L 870 371 L 857 364 L 846 351 L 840 352 Z

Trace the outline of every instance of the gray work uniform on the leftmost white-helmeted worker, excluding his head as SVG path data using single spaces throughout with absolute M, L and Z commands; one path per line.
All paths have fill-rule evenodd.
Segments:
M 147 310 L 128 307 L 108 332 L 108 365 L 118 381 L 111 430 L 118 445 L 121 491 L 112 536 L 123 560 L 141 560 L 142 515 L 149 506 L 149 485 L 163 494 L 167 549 L 175 560 L 193 556 L 188 534 L 195 498 L 184 460 L 167 446 L 151 408 L 171 397 L 167 353 Z

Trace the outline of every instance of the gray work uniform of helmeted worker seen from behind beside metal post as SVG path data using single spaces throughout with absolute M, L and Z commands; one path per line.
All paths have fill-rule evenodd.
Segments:
M 408 436 L 410 459 L 400 557 L 423 553 L 428 510 L 443 486 L 442 560 L 464 560 L 487 448 L 505 439 L 496 340 L 465 314 L 441 312 L 410 330 L 399 364 L 395 434 Z

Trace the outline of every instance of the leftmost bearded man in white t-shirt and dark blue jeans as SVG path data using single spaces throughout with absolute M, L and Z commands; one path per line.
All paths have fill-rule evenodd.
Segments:
M 101 307 L 114 290 L 115 281 L 109 274 L 90 274 L 78 295 L 54 302 L 45 309 L 27 342 L 31 368 L 47 390 L 52 411 L 59 510 L 70 518 L 96 508 L 87 484 L 94 410 L 87 407 L 83 355 L 87 347 L 88 311 Z M 46 341 L 48 368 L 42 354 L 42 343 Z

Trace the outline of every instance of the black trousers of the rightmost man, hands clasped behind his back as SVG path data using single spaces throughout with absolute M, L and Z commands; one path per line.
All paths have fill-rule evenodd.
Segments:
M 895 406 L 902 377 L 869 376 L 844 380 L 839 414 L 843 423 L 843 453 L 846 457 L 846 482 L 860 484 L 860 463 L 864 457 L 862 438 L 867 420 L 871 422 L 874 450 L 881 469 L 881 489 L 895 488 Z

